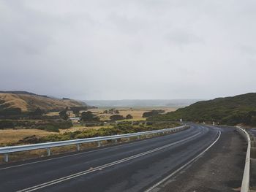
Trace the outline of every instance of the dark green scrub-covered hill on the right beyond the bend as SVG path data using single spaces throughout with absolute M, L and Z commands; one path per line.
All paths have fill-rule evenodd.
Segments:
M 256 126 L 256 93 L 199 101 L 175 112 L 157 115 L 148 120 L 215 121 L 227 125 L 244 123 Z

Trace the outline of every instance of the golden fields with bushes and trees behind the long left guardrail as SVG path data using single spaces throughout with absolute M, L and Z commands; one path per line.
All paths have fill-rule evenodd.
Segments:
M 59 111 L 45 111 L 37 107 L 28 112 L 13 108 L 0 111 L 0 146 L 126 134 L 177 126 L 176 123 L 166 122 L 164 125 L 146 123 L 143 113 L 151 114 L 152 110 L 140 108 L 66 107 Z

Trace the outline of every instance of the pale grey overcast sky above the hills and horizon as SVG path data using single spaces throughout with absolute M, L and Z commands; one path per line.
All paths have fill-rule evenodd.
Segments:
M 73 99 L 256 92 L 255 7 L 255 0 L 0 0 L 0 90 Z

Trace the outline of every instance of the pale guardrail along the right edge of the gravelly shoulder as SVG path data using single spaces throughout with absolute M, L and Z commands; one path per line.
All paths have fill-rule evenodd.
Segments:
M 248 192 L 249 191 L 249 176 L 250 176 L 250 161 L 251 161 L 251 139 L 249 134 L 241 127 L 236 127 L 236 130 L 246 139 L 247 151 L 246 151 L 246 159 L 245 159 L 245 166 L 244 166 L 244 175 L 241 185 L 241 192 Z

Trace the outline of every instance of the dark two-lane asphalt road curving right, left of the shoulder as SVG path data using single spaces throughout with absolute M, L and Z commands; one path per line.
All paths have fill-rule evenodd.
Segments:
M 219 137 L 192 125 L 176 134 L 0 166 L 0 191 L 145 191 Z M 221 136 L 220 136 L 221 137 Z

